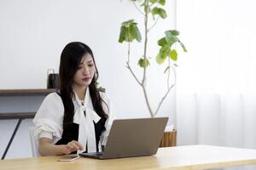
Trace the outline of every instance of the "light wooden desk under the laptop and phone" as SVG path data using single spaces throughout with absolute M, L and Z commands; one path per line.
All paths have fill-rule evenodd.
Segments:
M 4 170 L 117 170 L 117 169 L 176 169 L 195 170 L 214 167 L 233 167 L 256 164 L 256 150 L 188 145 L 160 148 L 155 156 L 96 160 L 80 158 L 77 161 L 57 161 L 59 156 L 44 156 L 0 161 Z

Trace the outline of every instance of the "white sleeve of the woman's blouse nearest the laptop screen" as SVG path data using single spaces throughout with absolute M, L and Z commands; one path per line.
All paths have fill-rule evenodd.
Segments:
M 103 110 L 106 112 L 106 114 L 108 114 L 108 119 L 105 122 L 106 130 L 102 133 L 102 136 L 101 136 L 102 145 L 106 145 L 110 128 L 112 126 L 113 120 L 115 119 L 115 114 L 113 111 L 113 105 L 111 105 L 111 101 L 108 98 L 108 96 L 104 93 L 101 93 L 101 97 L 102 97 L 102 100 L 104 101 L 102 102 Z

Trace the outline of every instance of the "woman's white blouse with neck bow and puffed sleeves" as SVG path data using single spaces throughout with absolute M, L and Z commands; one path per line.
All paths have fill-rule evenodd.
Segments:
M 78 152 L 84 152 L 87 144 L 88 152 L 96 152 L 96 137 L 95 137 L 95 126 L 93 122 L 98 122 L 101 117 L 96 114 L 93 109 L 90 90 L 87 88 L 84 96 L 84 105 L 79 100 L 78 95 L 74 92 L 73 105 L 74 105 L 74 116 L 73 122 L 79 124 L 79 143 L 83 145 L 84 150 Z M 99 143 L 99 151 L 101 151 L 101 144 L 105 145 L 108 139 L 109 130 L 112 126 L 112 122 L 115 118 L 110 100 L 104 93 L 100 93 L 102 100 L 102 108 L 108 115 L 108 119 L 105 122 L 106 131 L 102 133 L 101 140 Z M 86 116 L 84 116 L 84 111 Z M 61 139 L 63 133 L 63 117 L 64 117 L 64 105 L 62 103 L 61 96 L 56 93 L 51 93 L 46 96 L 42 105 L 39 107 L 38 112 L 33 119 L 35 123 L 35 136 L 38 138 L 49 138 L 52 139 L 54 144 Z

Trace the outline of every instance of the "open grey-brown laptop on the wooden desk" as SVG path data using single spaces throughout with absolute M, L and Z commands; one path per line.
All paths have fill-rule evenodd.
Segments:
M 114 120 L 104 150 L 80 153 L 79 156 L 113 159 L 154 155 L 159 148 L 167 121 L 168 117 Z

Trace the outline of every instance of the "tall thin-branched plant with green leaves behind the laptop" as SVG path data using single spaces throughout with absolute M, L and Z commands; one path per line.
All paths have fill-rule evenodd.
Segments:
M 137 27 L 137 22 L 132 20 L 125 20 L 120 26 L 119 32 L 119 42 L 127 42 L 128 43 L 128 53 L 127 53 L 127 61 L 126 67 L 131 72 L 132 77 L 136 80 L 137 84 L 142 88 L 143 95 L 146 100 L 146 104 L 148 107 L 148 111 L 151 117 L 157 115 L 160 110 L 160 106 L 163 104 L 166 96 L 170 93 L 171 89 L 176 84 L 176 72 L 175 67 L 177 61 L 177 50 L 175 44 L 179 44 L 184 52 L 187 52 L 183 42 L 178 38 L 179 32 L 177 30 L 167 30 L 164 32 L 164 37 L 160 37 L 157 42 L 159 46 L 159 53 L 156 54 L 155 61 L 162 65 L 167 62 L 166 69 L 163 71 L 163 74 L 167 74 L 167 89 L 166 93 L 160 99 L 159 105 L 155 110 L 152 109 L 149 99 L 148 99 L 148 91 L 146 88 L 146 80 L 147 80 L 147 70 L 150 65 L 149 55 L 148 55 L 148 32 L 152 31 L 152 28 L 157 24 L 159 19 L 166 19 L 167 14 L 164 9 L 166 5 L 166 0 L 130 0 L 131 3 L 135 5 L 140 14 L 143 14 L 143 35 L 142 37 L 141 31 Z M 151 19 L 151 20 L 150 20 Z M 149 26 L 149 22 L 153 21 Z M 143 78 L 139 80 L 137 74 L 130 65 L 130 50 L 131 50 L 131 42 L 133 41 L 142 42 L 143 40 L 143 57 L 138 59 L 138 65 L 143 69 Z M 153 55 L 153 54 L 151 54 Z M 174 83 L 170 85 L 170 73 L 171 71 L 174 74 Z M 170 134 L 171 135 L 171 134 Z M 166 135 L 165 135 L 166 136 Z M 168 135 L 167 135 L 168 136 Z M 169 137 L 169 136 L 168 136 Z M 167 137 L 167 138 L 168 138 Z

